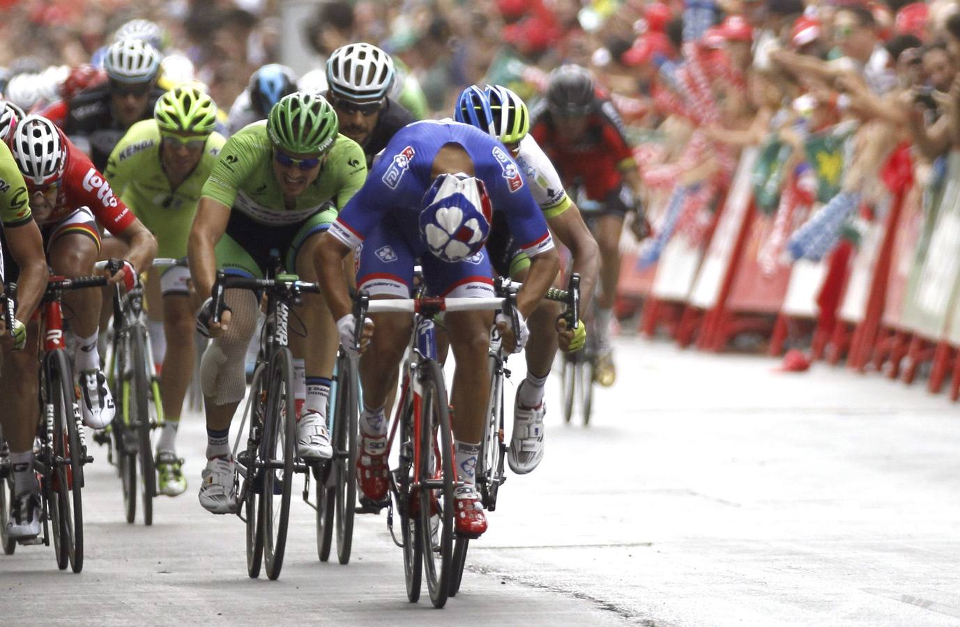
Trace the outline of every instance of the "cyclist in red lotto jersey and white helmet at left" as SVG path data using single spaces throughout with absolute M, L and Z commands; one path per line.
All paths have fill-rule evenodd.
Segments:
M 137 273 L 154 259 L 156 240 L 127 205 L 113 195 L 103 174 L 60 128 L 38 115 L 28 115 L 17 124 L 11 145 L 13 159 L 26 180 L 30 207 L 53 271 L 68 278 L 93 273 L 100 251 L 99 221 L 129 247 L 127 261 L 110 282 L 122 281 L 131 289 Z M 73 312 L 69 339 L 75 342 L 73 357 L 84 425 L 104 429 L 113 419 L 114 407 L 97 348 L 100 294 L 97 290 L 71 291 L 64 294 L 63 303 L 66 311 Z M 20 360 L 21 356 L 15 359 Z M 36 386 L 36 353 L 24 357 L 18 365 L 19 384 L 25 388 Z M 29 422 L 32 418 L 22 415 L 17 419 Z

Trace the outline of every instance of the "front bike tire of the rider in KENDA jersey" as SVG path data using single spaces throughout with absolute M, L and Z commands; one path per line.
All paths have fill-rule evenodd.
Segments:
M 150 378 L 147 375 L 147 337 L 143 329 L 134 328 L 130 337 L 130 359 L 133 381 L 131 408 L 133 424 L 136 425 L 137 457 L 140 470 L 139 493 L 143 504 L 143 523 L 154 523 L 154 497 L 156 497 L 156 467 L 151 442 L 150 424 Z M 136 497 L 134 496 L 133 499 Z

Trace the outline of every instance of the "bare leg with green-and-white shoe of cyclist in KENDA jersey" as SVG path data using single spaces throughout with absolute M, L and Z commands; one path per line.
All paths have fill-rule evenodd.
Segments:
M 159 475 L 159 491 L 171 497 L 186 490 L 186 478 L 181 471 L 177 456 L 176 438 L 180 429 L 180 411 L 183 397 L 193 377 L 195 363 L 195 312 L 189 293 L 190 271 L 185 267 L 170 267 L 162 276 L 157 276 L 162 301 L 163 329 L 167 350 L 160 368 L 160 399 L 163 403 L 163 427 L 156 443 L 156 470 Z M 155 280 L 156 282 L 156 280 Z M 153 340 L 153 329 L 151 340 Z M 155 356 L 156 359 L 156 356 Z

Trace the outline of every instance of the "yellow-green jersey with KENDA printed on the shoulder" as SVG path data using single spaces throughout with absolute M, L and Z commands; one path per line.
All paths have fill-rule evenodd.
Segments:
M 156 237 L 158 257 L 186 256 L 200 193 L 225 141 L 220 133 L 210 133 L 200 163 L 176 189 L 170 187 L 163 171 L 160 130 L 154 120 L 134 124 L 110 153 L 104 175 L 133 215 Z

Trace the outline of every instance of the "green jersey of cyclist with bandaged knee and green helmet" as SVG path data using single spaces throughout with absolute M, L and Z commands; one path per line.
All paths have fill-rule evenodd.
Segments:
M 338 135 L 326 153 L 320 174 L 295 206 L 287 208 L 274 174 L 274 150 L 266 121 L 254 122 L 232 135 L 220 161 L 204 185 L 202 196 L 222 202 L 246 218 L 266 226 L 305 221 L 321 209 L 347 204 L 367 178 L 367 158 L 352 139 Z

